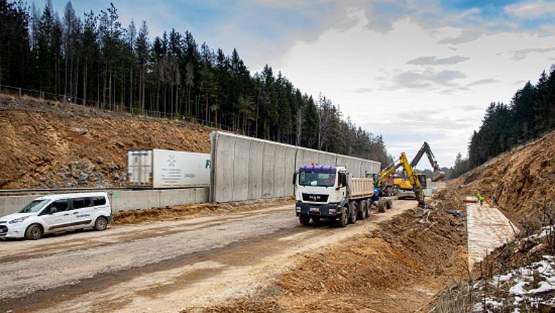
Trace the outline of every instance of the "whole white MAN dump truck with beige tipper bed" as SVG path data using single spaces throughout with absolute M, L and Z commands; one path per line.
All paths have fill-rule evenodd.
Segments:
M 305 165 L 293 175 L 296 215 L 302 225 L 332 219 L 340 227 L 366 219 L 373 202 L 372 178 L 355 178 L 346 167 Z

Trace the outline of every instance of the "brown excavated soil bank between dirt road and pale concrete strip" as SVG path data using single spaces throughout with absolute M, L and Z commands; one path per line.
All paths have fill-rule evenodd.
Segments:
M 443 210 L 411 211 L 379 229 L 300 255 L 296 268 L 254 296 L 208 312 L 414 312 L 462 280 L 466 223 Z

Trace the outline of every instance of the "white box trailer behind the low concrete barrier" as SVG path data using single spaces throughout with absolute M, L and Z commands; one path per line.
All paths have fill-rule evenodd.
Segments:
M 127 153 L 129 187 L 177 188 L 210 185 L 210 154 L 172 150 Z

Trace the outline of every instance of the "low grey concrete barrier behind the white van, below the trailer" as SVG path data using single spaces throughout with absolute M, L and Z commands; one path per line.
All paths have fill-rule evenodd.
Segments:
M 166 208 L 173 205 L 208 202 L 210 188 L 107 190 L 112 212 Z M 40 195 L 0 196 L 0 217 L 11 214 Z

